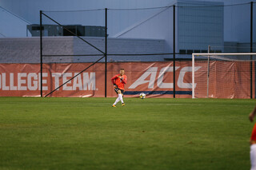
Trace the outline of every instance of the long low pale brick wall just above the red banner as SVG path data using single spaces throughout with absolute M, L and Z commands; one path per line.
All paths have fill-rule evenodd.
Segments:
M 85 38 L 105 52 L 104 38 Z M 42 38 L 43 55 L 102 54 L 74 37 Z M 166 42 L 154 39 L 108 38 L 108 53 L 166 53 Z M 43 57 L 43 62 L 93 62 L 101 56 Z M 166 56 L 108 56 L 108 61 L 163 61 Z M 102 60 L 104 61 L 104 60 Z M 0 63 L 39 63 L 40 38 L 0 38 Z

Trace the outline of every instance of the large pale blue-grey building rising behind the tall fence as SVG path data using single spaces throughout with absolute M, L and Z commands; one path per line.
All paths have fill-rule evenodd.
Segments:
M 6 42 L 9 45 L 24 44 L 22 55 L 30 58 L 31 62 L 38 62 L 37 46 L 26 47 L 26 43 L 37 42 L 39 11 L 63 26 L 69 27 L 74 32 L 93 42 L 102 51 L 104 46 L 104 28 L 105 28 L 105 8 L 108 8 L 108 53 L 132 54 L 132 53 L 173 53 L 173 14 L 174 7 L 176 22 L 176 41 L 175 52 L 183 53 L 177 57 L 190 57 L 190 53 L 205 53 L 208 45 L 212 52 L 246 52 L 250 51 L 250 1 L 230 0 L 230 1 L 194 1 L 194 0 L 162 0 L 154 1 L 32 1 L 26 0 L 17 2 L 15 0 L 3 0 L 0 2 L 0 37 L 1 46 L 4 46 L 0 57 L 2 62 L 6 56 L 14 57 L 11 49 L 15 46 L 6 48 Z M 254 3 L 254 11 L 256 7 Z M 256 28 L 256 18 L 254 18 L 254 30 Z M 44 25 L 44 36 L 70 36 L 65 33 L 62 26 L 42 16 Z M 79 28 L 79 29 L 78 29 Z M 254 42 L 256 42 L 256 31 L 254 32 Z M 12 40 L 6 38 L 13 38 Z M 15 38 L 19 38 L 18 40 Z M 29 38 L 29 39 L 27 39 Z M 56 42 L 62 41 L 60 38 Z M 97 50 L 84 44 L 78 38 L 68 38 L 66 46 L 53 45 L 50 38 L 44 38 L 44 52 L 46 54 L 99 54 Z M 16 41 L 10 43 L 10 41 Z M 22 42 L 24 41 L 24 42 Z M 50 44 L 47 44 L 50 43 Z M 5 44 L 5 45 L 3 45 Z M 8 43 L 7 43 L 8 44 Z M 58 46 L 58 47 L 57 47 Z M 50 49 L 58 48 L 58 49 Z M 63 49 L 65 47 L 65 49 Z M 72 48 L 71 48 L 72 47 Z M 155 47 L 155 48 L 154 48 Z M 2 47 L 3 48 L 3 47 Z M 26 49 L 28 48 L 28 49 Z M 33 52 L 30 50 L 35 50 Z M 21 49 L 22 50 L 22 49 Z M 256 50 L 256 49 L 254 49 Z M 67 52 L 68 51 L 68 52 Z M 54 53 L 50 53 L 54 52 Z M 184 55 L 186 54 L 186 55 Z M 112 56 L 110 61 L 165 61 L 171 59 L 172 55 L 154 55 L 154 56 Z M 95 57 L 70 57 L 67 61 L 94 61 Z M 65 61 L 62 59 L 49 61 Z M 11 60 L 10 60 L 11 61 Z

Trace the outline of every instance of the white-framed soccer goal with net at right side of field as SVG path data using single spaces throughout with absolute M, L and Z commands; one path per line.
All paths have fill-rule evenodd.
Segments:
M 193 53 L 192 98 L 255 98 L 256 53 Z

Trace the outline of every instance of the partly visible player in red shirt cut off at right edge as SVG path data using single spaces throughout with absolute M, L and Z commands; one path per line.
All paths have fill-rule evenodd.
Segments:
M 254 110 L 249 115 L 249 120 L 254 121 L 256 115 L 256 106 Z M 256 170 L 256 124 L 254 124 L 253 132 L 250 136 L 250 170 Z

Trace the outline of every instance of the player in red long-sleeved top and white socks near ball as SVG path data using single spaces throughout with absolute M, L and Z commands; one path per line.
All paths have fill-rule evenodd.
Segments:
M 125 69 L 120 69 L 120 73 L 115 75 L 111 78 L 111 81 L 114 85 L 114 91 L 118 94 L 118 98 L 116 101 L 114 101 L 114 104 L 112 107 L 116 107 L 118 101 L 122 102 L 122 106 L 125 106 L 125 103 L 123 102 L 123 93 L 125 91 L 125 84 L 127 82 L 127 77 L 125 75 Z

